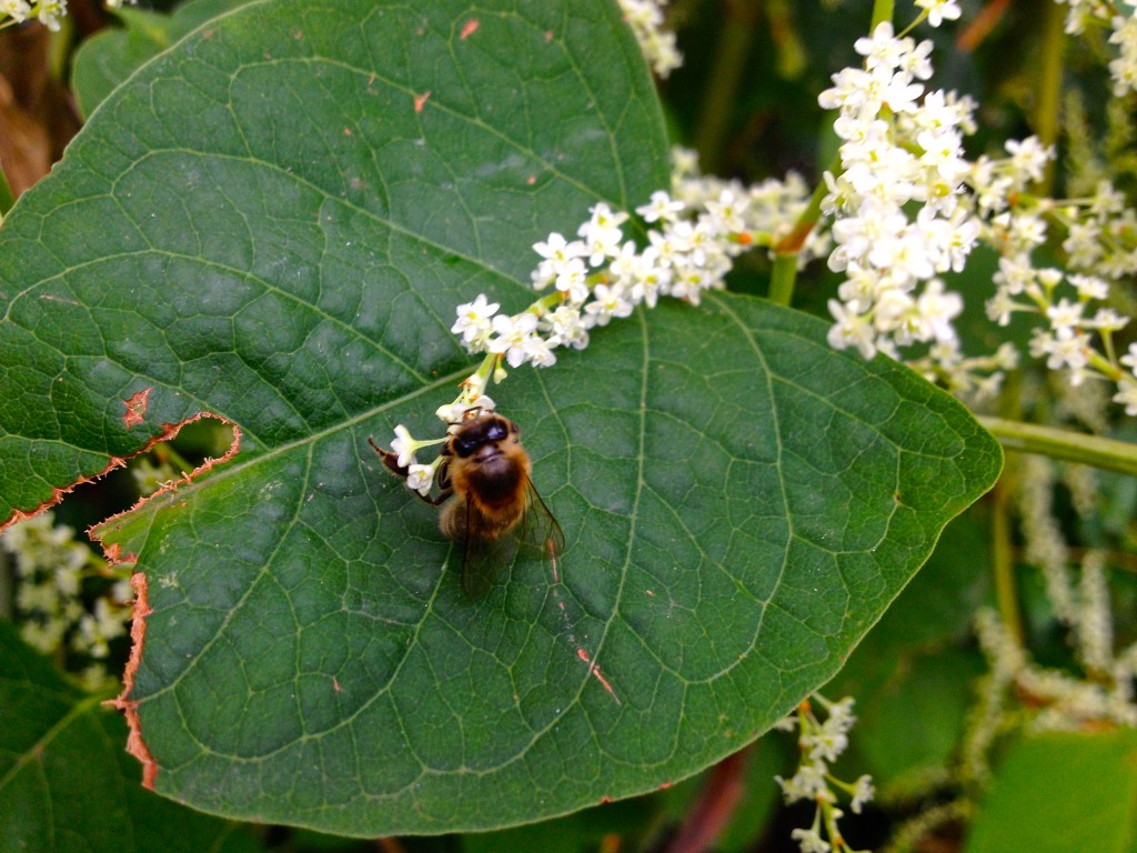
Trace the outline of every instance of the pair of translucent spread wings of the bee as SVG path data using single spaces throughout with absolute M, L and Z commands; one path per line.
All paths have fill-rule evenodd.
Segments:
M 518 554 L 525 557 L 556 560 L 564 550 L 565 535 L 549 507 L 537 494 L 532 481 L 525 486 L 525 510 L 508 532 L 481 538 L 478 531 L 489 524 L 479 517 L 472 502 L 466 502 L 465 554 L 462 561 L 462 588 L 471 598 L 482 595 L 503 569 L 512 566 Z

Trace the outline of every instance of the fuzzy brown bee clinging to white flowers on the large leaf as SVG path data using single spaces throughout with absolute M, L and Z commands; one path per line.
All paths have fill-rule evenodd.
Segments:
M 399 465 L 398 455 L 367 440 L 387 469 L 406 479 L 409 471 Z M 555 572 L 564 532 L 533 487 L 533 464 L 521 446 L 517 424 L 495 412 L 470 408 L 450 428 L 441 456 L 434 475 L 438 496 L 415 494 L 442 507 L 439 529 L 462 544 L 466 594 L 475 598 L 489 589 L 518 553 L 553 560 Z

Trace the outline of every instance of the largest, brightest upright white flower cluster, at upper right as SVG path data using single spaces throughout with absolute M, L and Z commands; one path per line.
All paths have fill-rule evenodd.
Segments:
M 843 140 L 843 171 L 825 173 L 822 201 L 835 217 L 829 267 L 846 275 L 839 300 L 829 304 L 837 321 L 829 341 L 855 346 L 865 358 L 878 350 L 898 357 L 899 346 L 956 338 L 952 321 L 963 301 L 937 276 L 961 271 L 979 237 L 962 204 L 971 103 L 926 93 L 918 82 L 931 76 L 931 42 L 897 39 L 885 22 L 855 48 L 864 67 L 835 74 L 819 97 L 840 111 L 835 130 Z M 919 210 L 910 217 L 912 202 Z

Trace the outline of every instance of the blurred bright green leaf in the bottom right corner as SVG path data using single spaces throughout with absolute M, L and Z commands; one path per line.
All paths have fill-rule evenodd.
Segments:
M 1137 840 L 1137 731 L 1023 737 L 995 772 L 966 853 L 1128 853 Z

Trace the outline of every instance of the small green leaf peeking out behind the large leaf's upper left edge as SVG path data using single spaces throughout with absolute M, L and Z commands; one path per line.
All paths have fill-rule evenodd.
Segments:
M 139 67 L 207 20 L 248 0 L 191 0 L 173 14 L 132 6 L 114 10 L 122 27 L 108 27 L 75 51 L 72 85 L 80 110 L 90 117 L 115 86 Z

